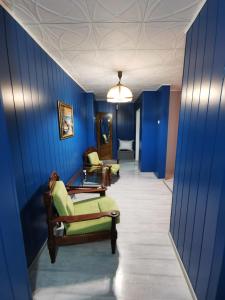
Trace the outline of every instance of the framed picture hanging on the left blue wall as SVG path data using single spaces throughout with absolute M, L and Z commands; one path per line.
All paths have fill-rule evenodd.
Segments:
M 74 136 L 74 120 L 72 105 L 58 101 L 59 135 L 60 139 Z

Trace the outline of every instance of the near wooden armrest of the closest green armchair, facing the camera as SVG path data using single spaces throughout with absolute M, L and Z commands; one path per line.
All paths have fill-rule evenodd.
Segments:
M 111 217 L 112 219 L 116 219 L 120 215 L 120 212 L 117 210 L 94 213 L 94 214 L 86 214 L 86 215 L 78 215 L 78 216 L 60 216 L 53 220 L 51 220 L 52 224 L 63 222 L 63 223 L 74 223 L 88 220 L 100 219 L 103 217 Z

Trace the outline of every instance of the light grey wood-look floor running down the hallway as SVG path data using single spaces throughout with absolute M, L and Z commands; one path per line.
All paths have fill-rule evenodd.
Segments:
M 34 299 L 192 299 L 168 238 L 171 192 L 164 182 L 124 163 L 108 195 L 121 210 L 117 254 L 109 241 L 61 247 L 52 265 L 44 249 L 30 272 Z

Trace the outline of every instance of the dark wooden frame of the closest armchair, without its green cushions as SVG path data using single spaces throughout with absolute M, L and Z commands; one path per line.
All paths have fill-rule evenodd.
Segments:
M 87 242 L 100 241 L 104 239 L 111 239 L 111 248 L 112 253 L 114 254 L 116 251 L 116 240 L 117 240 L 117 230 L 116 230 L 116 218 L 119 216 L 119 211 L 107 211 L 93 214 L 84 214 L 78 216 L 58 216 L 56 209 L 53 204 L 52 191 L 54 189 L 56 181 L 59 180 L 59 176 L 56 172 L 52 172 L 49 182 L 48 182 L 48 191 L 44 193 L 44 205 L 47 213 L 47 225 L 48 225 L 48 250 L 51 258 L 51 263 L 55 262 L 58 246 L 63 245 L 73 245 L 73 244 L 81 244 Z M 100 187 L 80 187 L 80 186 L 70 186 L 66 187 L 68 193 L 79 194 L 79 193 L 99 193 L 100 196 L 105 195 L 106 188 Z M 79 235 L 71 235 L 67 236 L 55 236 L 54 235 L 54 227 L 57 226 L 60 222 L 69 224 L 74 222 L 81 222 L 87 220 L 95 220 L 102 217 L 111 217 L 112 218 L 112 226 L 109 231 L 101 231 L 95 233 L 88 234 L 79 234 Z

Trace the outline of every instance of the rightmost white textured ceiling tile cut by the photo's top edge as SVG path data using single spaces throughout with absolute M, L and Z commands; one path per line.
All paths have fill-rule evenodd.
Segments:
M 190 21 L 200 0 L 161 0 L 149 2 L 145 21 Z

